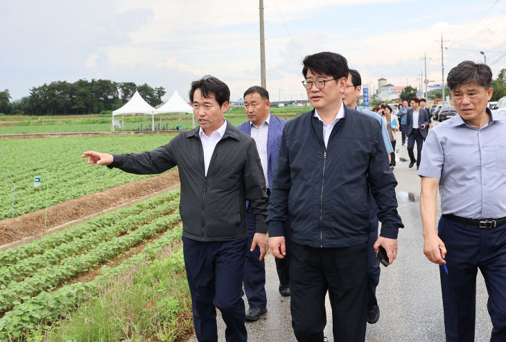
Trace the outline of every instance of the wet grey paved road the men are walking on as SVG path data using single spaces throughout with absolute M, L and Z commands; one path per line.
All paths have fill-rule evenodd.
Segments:
M 426 260 L 419 214 L 420 181 L 417 169 L 408 168 L 408 152 L 401 146 L 396 150 L 394 170 L 399 185 L 396 188 L 399 213 L 405 228 L 399 232 L 399 253 L 394 264 L 381 269 L 377 289 L 381 317 L 378 323 L 367 325 L 368 342 L 433 342 L 444 341 L 443 306 L 438 267 Z M 416 150 L 416 147 L 415 147 Z M 401 161 L 399 161 L 399 159 Z M 439 208 L 439 205 L 438 205 Z M 439 213 L 438 213 L 439 215 Z M 295 341 L 290 319 L 290 299 L 278 293 L 274 257 L 265 260 L 267 271 L 268 313 L 259 321 L 247 323 L 248 341 Z M 487 312 L 487 289 L 478 273 L 476 303 L 476 341 L 490 339 L 492 329 Z M 245 302 L 246 298 L 244 297 Z M 247 307 L 247 303 L 246 303 Z M 325 336 L 332 336 L 331 309 L 327 300 Z M 219 341 L 225 341 L 225 325 L 218 312 Z M 196 341 L 196 339 L 195 339 Z

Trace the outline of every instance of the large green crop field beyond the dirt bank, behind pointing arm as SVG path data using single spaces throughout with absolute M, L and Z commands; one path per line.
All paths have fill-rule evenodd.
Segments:
M 150 151 L 171 138 L 173 134 L 2 139 L 0 219 L 151 177 L 88 165 L 82 152 Z M 36 176 L 41 177 L 38 188 L 34 187 Z

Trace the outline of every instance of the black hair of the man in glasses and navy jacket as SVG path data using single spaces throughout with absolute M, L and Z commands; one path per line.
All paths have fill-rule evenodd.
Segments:
M 308 70 L 312 73 L 329 75 L 332 78 L 348 78 L 348 62 L 339 53 L 320 52 L 314 55 L 307 55 L 302 61 L 302 75 L 306 78 Z

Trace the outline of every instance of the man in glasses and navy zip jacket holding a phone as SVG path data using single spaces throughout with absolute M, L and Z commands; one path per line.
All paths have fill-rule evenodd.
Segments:
M 270 195 L 269 244 L 285 254 L 283 222 L 292 227 L 290 303 L 297 341 L 323 341 L 329 291 L 335 341 L 364 341 L 367 316 L 367 184 L 383 222 L 374 244 L 396 258 L 394 175 L 378 122 L 342 102 L 349 73 L 337 53 L 316 53 L 302 73 L 314 109 L 286 123 Z

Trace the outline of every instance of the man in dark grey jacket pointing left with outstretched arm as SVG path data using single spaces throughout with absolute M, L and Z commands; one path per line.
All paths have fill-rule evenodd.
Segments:
M 227 123 L 230 92 L 212 76 L 191 84 L 189 98 L 200 127 L 182 132 L 151 152 L 82 154 L 88 163 L 135 174 L 161 173 L 177 165 L 186 276 L 199 341 L 218 341 L 216 309 L 227 325 L 227 341 L 247 341 L 243 265 L 247 224 L 245 201 L 256 220 L 251 250 L 267 253 L 267 193 L 254 140 Z

